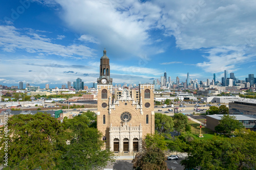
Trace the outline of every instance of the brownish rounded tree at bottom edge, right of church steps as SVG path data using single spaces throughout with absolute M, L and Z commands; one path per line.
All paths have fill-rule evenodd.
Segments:
M 166 157 L 157 147 L 144 148 L 133 159 L 133 167 L 137 170 L 165 170 L 167 169 Z

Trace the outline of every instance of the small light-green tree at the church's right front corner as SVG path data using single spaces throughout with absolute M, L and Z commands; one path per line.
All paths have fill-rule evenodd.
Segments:
M 154 135 L 146 134 L 146 137 L 143 142 L 146 148 L 157 147 L 160 148 L 162 151 L 167 150 L 164 137 L 157 133 L 155 133 Z

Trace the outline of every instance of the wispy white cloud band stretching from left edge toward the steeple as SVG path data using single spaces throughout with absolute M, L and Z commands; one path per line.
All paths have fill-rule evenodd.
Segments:
M 0 26 L 0 47 L 6 52 L 15 52 L 19 49 L 28 53 L 43 53 L 77 59 L 94 56 L 95 51 L 90 47 L 75 44 L 64 46 L 50 41 L 51 39 L 42 38 L 35 33 L 22 33 L 13 26 Z

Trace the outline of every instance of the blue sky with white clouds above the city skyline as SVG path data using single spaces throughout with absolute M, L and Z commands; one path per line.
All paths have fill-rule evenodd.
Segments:
M 0 2 L 0 84 L 92 86 L 106 48 L 114 83 L 245 80 L 255 72 L 255 1 Z

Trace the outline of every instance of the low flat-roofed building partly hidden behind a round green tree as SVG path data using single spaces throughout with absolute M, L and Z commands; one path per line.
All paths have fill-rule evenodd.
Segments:
M 206 128 L 215 131 L 215 127 L 219 125 L 219 122 L 224 114 L 206 115 Z M 240 115 L 234 114 L 239 122 L 242 122 L 246 129 L 256 130 L 256 115 Z

